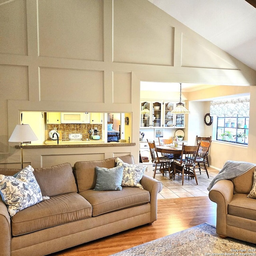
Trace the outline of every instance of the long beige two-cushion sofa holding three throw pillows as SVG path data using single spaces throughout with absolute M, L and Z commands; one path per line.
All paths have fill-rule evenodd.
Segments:
M 131 155 L 120 157 L 134 163 Z M 0 256 L 39 256 L 108 236 L 157 218 L 157 194 L 161 182 L 143 176 L 144 189 L 94 191 L 95 167 L 112 168 L 115 158 L 69 163 L 34 170 L 42 201 L 17 212 L 12 218 L 0 199 Z M 0 169 L 13 175 L 18 169 Z

